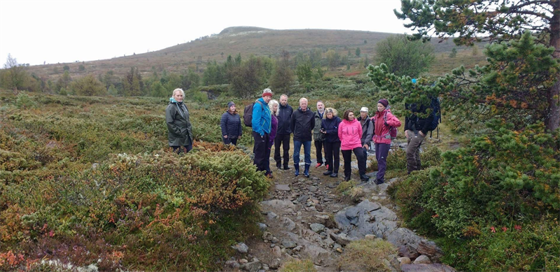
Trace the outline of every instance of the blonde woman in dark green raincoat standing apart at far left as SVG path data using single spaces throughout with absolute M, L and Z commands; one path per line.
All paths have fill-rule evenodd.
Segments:
M 177 88 L 169 98 L 169 105 L 165 108 L 165 122 L 167 122 L 167 137 L 169 146 L 177 154 L 185 147 L 186 152 L 193 149 L 193 125 L 190 124 L 187 106 L 183 103 L 185 92 Z

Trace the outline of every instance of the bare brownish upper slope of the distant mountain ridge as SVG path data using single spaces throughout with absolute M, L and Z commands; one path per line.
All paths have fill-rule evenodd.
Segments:
M 262 27 L 228 27 L 219 34 L 197 38 L 195 41 L 182 43 L 158 51 L 102 59 L 90 62 L 73 62 L 66 64 L 47 64 L 30 66 L 29 72 L 37 76 L 58 78 L 69 66 L 71 76 L 95 75 L 113 71 L 116 76 L 123 76 L 131 67 L 137 67 L 140 73 L 153 71 L 183 72 L 187 69 L 202 69 L 207 62 L 224 62 L 228 55 L 241 54 L 277 57 L 282 50 L 287 50 L 294 57 L 298 52 L 307 54 L 318 48 L 326 52 L 336 50 L 341 56 L 356 58 L 354 52 L 360 48 L 360 58 L 365 56 L 372 61 L 377 42 L 388 36 L 396 35 L 383 32 L 330 30 L 330 29 L 288 29 L 276 30 Z M 450 51 L 452 42 L 438 43 L 433 39 L 436 52 Z M 83 65 L 85 70 L 80 71 Z

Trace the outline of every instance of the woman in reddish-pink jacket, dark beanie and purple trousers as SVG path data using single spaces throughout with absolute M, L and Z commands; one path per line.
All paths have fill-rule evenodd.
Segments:
M 372 117 L 374 125 L 373 142 L 375 143 L 375 158 L 379 166 L 377 180 L 375 180 L 375 184 L 377 185 L 385 182 L 387 156 L 389 154 L 389 149 L 391 149 L 391 129 L 400 127 L 400 120 L 391 113 L 388 105 L 389 101 L 387 101 L 387 99 L 379 99 L 379 101 L 377 101 L 377 113 Z

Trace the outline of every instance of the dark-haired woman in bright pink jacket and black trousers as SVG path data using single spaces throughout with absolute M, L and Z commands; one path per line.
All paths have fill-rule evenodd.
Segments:
M 338 125 L 338 138 L 340 138 L 340 149 L 342 157 L 344 157 L 344 180 L 350 180 L 352 173 L 352 152 L 358 159 L 358 171 L 360 172 L 360 180 L 370 180 L 365 176 L 365 157 L 362 149 L 362 125 L 354 117 L 352 110 L 344 112 L 344 119 Z

